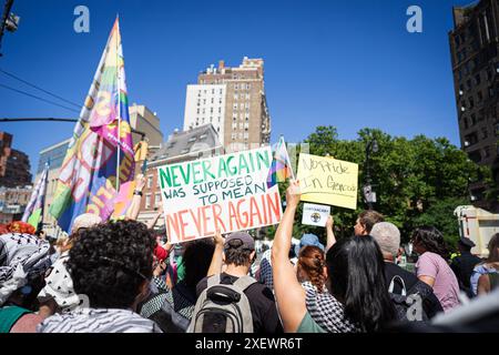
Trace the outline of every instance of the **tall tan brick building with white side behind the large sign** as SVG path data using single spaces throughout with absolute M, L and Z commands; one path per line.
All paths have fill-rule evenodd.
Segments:
M 268 144 L 263 59 L 245 57 L 234 68 L 220 61 L 200 73 L 197 84 L 187 85 L 184 131 L 210 123 L 227 152 Z

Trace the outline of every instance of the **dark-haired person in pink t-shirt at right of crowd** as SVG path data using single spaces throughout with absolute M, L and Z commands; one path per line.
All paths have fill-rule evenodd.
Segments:
M 444 235 L 434 226 L 421 226 L 414 231 L 411 242 L 419 254 L 418 278 L 434 288 L 444 312 L 451 311 L 459 305 L 459 283 L 447 263 L 449 253 Z

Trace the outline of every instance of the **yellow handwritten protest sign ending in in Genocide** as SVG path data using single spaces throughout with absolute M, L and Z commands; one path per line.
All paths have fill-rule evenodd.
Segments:
M 298 174 L 302 201 L 355 210 L 358 165 L 310 154 L 299 154 Z

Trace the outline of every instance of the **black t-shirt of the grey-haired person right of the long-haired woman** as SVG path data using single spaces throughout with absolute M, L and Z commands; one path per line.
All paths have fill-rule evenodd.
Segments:
M 427 292 L 428 295 L 422 300 L 422 308 L 425 310 L 425 313 L 429 318 L 432 318 L 438 313 L 444 312 L 440 302 L 438 301 L 437 296 L 429 285 L 425 284 L 422 281 L 419 281 L 419 278 L 415 274 L 408 272 L 407 270 L 401 268 L 394 263 L 385 262 L 385 280 L 387 287 L 389 287 L 391 280 L 395 276 L 400 276 L 400 278 L 404 280 L 407 295 L 411 293 L 410 291 L 416 286 L 416 284 L 419 284 L 418 287 L 429 288 Z M 401 294 L 403 285 L 400 280 L 395 278 L 394 284 L 394 293 L 398 295 Z

